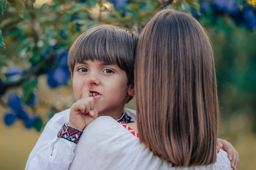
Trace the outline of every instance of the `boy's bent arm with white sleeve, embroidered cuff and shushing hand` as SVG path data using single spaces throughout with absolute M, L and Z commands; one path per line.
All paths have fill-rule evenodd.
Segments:
M 68 169 L 74 158 L 74 150 L 81 133 L 95 118 L 94 99 L 88 89 L 70 109 L 69 122 L 52 118 L 36 142 L 29 155 L 26 170 L 30 169 Z M 62 127 L 60 124 L 64 124 Z M 59 130 L 58 137 L 56 129 Z

